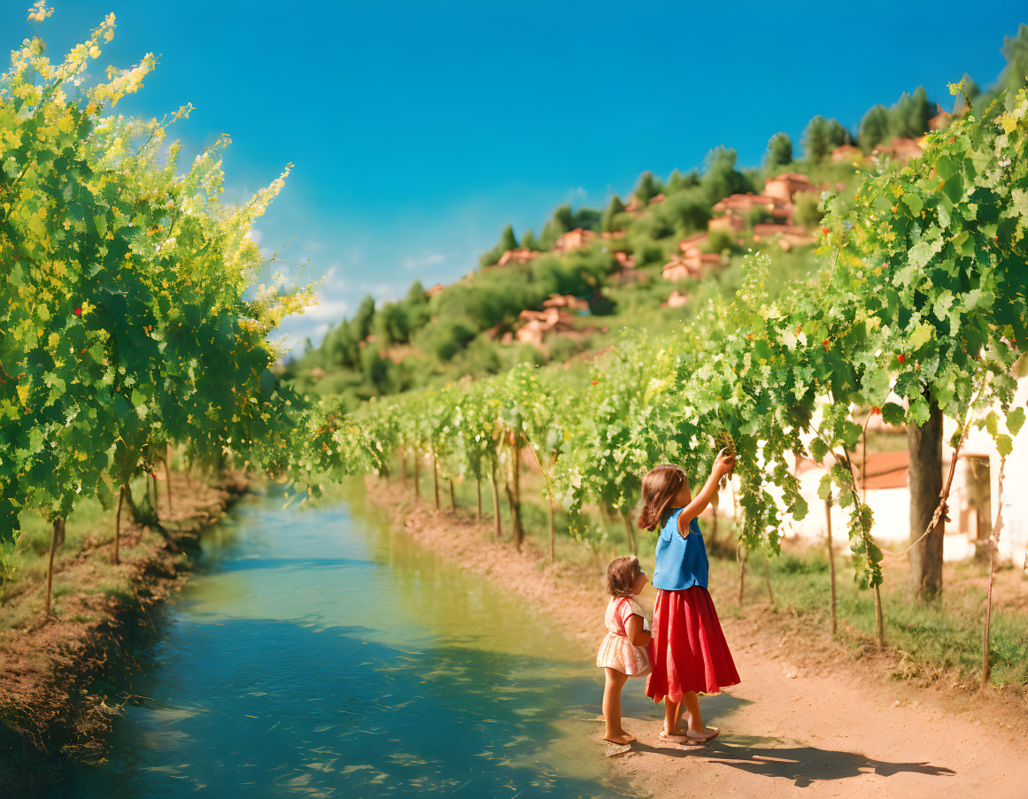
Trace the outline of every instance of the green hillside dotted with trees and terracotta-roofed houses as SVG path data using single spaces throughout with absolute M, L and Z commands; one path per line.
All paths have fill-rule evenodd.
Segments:
M 747 251 L 774 255 L 773 279 L 803 278 L 824 199 L 848 201 L 862 174 L 906 163 L 950 118 L 919 87 L 871 108 L 855 135 L 814 117 L 802 158 L 779 132 L 759 168 L 740 168 L 734 150 L 718 147 L 702 169 L 644 173 L 627 202 L 615 194 L 602 211 L 560 205 L 539 235 L 508 225 L 478 269 L 445 287 L 415 281 L 397 302 L 365 298 L 283 376 L 355 407 L 516 363 L 566 363 L 625 327 L 671 329 L 709 297 L 734 293 Z

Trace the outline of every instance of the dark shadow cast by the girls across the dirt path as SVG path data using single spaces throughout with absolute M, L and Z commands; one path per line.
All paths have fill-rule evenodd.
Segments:
M 779 746 L 776 738 L 732 735 L 715 738 L 703 749 L 657 749 L 634 745 L 636 752 L 652 752 L 666 757 L 703 758 L 709 763 L 731 766 L 751 774 L 790 779 L 797 788 L 830 779 L 845 779 L 859 774 L 892 776 L 898 773 L 952 776 L 953 769 L 929 763 L 901 763 L 875 760 L 855 752 L 837 752 L 817 747 Z

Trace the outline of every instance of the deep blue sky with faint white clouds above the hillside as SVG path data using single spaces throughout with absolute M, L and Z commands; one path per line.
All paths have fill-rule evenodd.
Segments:
M 139 2 L 0 0 L 7 49 L 58 58 L 104 14 L 110 61 L 159 66 L 118 110 L 162 115 L 190 155 L 221 132 L 230 197 L 295 164 L 262 246 L 324 278 L 282 331 L 319 340 L 361 298 L 472 269 L 507 222 L 537 233 L 560 202 L 601 207 L 638 174 L 689 169 L 721 144 L 757 165 L 815 114 L 855 128 L 875 103 L 968 72 L 991 84 L 1023 2 Z M 104 62 L 106 63 L 105 58 Z M 190 160 L 188 157 L 184 162 Z M 297 270 L 293 270 L 296 272 Z

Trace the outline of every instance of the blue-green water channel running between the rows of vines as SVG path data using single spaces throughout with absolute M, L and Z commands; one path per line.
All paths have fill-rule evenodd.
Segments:
M 109 762 L 53 797 L 626 796 L 591 653 L 440 561 L 352 487 L 249 497 L 203 541 Z M 554 598 L 558 602 L 559 598 Z

